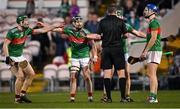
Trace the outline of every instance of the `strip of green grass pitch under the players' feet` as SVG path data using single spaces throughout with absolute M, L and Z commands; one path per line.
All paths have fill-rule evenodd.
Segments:
M 31 104 L 15 104 L 14 94 L 0 93 L 0 108 L 180 108 L 180 91 L 159 91 L 158 104 L 145 103 L 148 92 L 132 92 L 132 103 L 120 103 L 120 93 L 112 92 L 113 102 L 101 103 L 102 92 L 94 92 L 94 102 L 89 103 L 86 92 L 78 92 L 75 103 L 69 102 L 69 93 L 31 93 Z

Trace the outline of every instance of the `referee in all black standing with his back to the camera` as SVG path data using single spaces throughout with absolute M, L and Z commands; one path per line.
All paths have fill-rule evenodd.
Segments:
M 116 17 L 117 7 L 110 5 L 107 16 L 103 18 L 98 27 L 97 33 L 102 35 L 102 69 L 104 71 L 104 86 L 107 99 L 103 102 L 111 103 L 111 72 L 113 66 L 117 70 L 119 78 L 119 88 L 121 92 L 121 102 L 125 100 L 125 57 L 123 51 L 122 36 L 126 35 L 127 29 L 123 20 Z

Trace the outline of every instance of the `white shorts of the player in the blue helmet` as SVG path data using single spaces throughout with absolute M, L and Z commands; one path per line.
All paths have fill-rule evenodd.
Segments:
M 149 51 L 147 54 L 147 63 L 161 63 L 162 51 Z

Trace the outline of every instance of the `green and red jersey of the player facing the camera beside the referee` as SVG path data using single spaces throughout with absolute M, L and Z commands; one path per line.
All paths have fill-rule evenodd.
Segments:
M 68 35 L 68 40 L 71 45 L 72 58 L 86 58 L 89 57 L 89 39 L 81 35 L 81 33 L 89 34 L 86 29 L 75 31 L 71 27 L 64 28 L 64 33 Z

